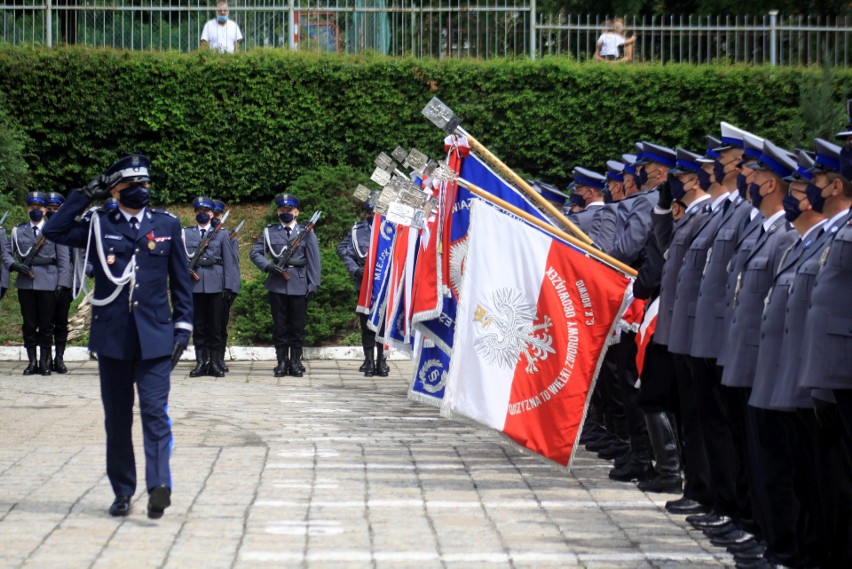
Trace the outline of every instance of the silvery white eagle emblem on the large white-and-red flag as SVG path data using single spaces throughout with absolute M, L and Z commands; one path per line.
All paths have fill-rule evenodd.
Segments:
M 513 369 L 521 354 L 527 359 L 527 373 L 538 371 L 536 363 L 555 354 L 551 347 L 553 338 L 547 331 L 553 325 L 550 316 L 544 315 L 541 324 L 535 324 L 535 306 L 526 302 L 519 291 L 502 288 L 492 296 L 493 308 L 479 305 L 474 311 L 474 322 L 479 322 L 486 333 L 476 339 L 474 347 L 485 360 L 501 368 Z M 488 331 L 488 328 L 491 331 Z

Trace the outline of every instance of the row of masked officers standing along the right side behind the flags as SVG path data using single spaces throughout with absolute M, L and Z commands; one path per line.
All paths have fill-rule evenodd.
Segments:
M 633 339 L 616 346 L 615 379 L 602 372 L 596 393 L 609 429 L 584 438 L 616 458 L 611 477 L 649 491 L 680 490 L 679 443 L 684 495 L 667 509 L 693 514 L 738 566 L 848 566 L 852 327 L 836 306 L 849 291 L 848 156 L 821 139 L 794 156 L 727 123 L 721 134 L 704 156 L 642 143 L 638 159 L 608 164 L 618 224 L 604 250 L 639 270 L 634 292 L 659 298 L 659 317 L 639 389 L 618 356 Z M 631 204 L 650 197 L 646 175 L 656 196 Z M 577 169 L 575 181 L 601 190 L 604 177 Z M 606 243 L 605 223 L 586 228 Z

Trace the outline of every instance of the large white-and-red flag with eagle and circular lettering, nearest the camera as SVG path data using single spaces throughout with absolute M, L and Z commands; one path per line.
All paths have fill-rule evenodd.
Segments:
M 570 466 L 630 279 L 491 205 L 472 205 L 442 412 Z

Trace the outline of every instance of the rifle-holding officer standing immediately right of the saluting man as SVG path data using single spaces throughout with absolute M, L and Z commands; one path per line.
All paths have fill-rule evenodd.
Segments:
M 195 368 L 189 372 L 190 377 L 210 375 L 224 377 L 224 363 L 219 360 L 224 355 L 224 338 L 222 337 L 222 316 L 225 313 L 223 292 L 234 287 L 231 279 L 233 271 L 231 263 L 233 252 L 228 242 L 226 231 L 217 231 L 211 223 L 213 220 L 213 200 L 199 196 L 192 201 L 195 210 L 196 225 L 183 230 L 183 241 L 186 247 L 187 260 L 196 257 L 199 246 L 206 241 L 207 245 L 201 256 L 194 262 L 190 270 L 194 273 L 195 281 L 192 289 L 193 333 L 192 341 L 195 346 Z

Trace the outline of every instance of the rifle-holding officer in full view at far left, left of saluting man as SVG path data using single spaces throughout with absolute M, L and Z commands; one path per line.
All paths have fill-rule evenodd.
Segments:
M 29 360 L 24 368 L 24 375 L 50 375 L 56 289 L 62 282 L 61 279 L 70 274 L 69 253 L 67 247 L 58 246 L 46 236 L 42 236 L 47 195 L 42 192 L 30 192 L 26 201 L 30 221 L 13 228 L 9 240 L 12 255 L 17 257 L 17 262 L 10 256 L 4 263 L 7 269 L 19 273 L 16 286 L 21 303 L 21 316 L 24 319 L 24 347 Z M 38 253 L 32 258 L 31 265 L 26 266 L 21 261 L 25 260 L 34 247 L 38 249 Z M 36 347 L 41 348 L 38 360 Z

